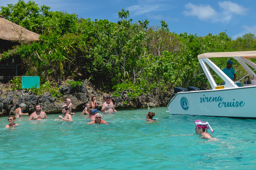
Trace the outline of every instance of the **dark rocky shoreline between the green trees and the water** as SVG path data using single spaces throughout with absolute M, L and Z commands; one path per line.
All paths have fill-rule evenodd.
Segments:
M 66 99 L 70 98 L 72 111 L 82 111 L 86 103 L 91 102 L 92 96 L 97 96 L 97 103 L 103 104 L 103 96 L 107 94 L 98 93 L 92 88 L 86 88 L 88 82 L 85 80 L 81 87 L 71 87 L 70 85 L 60 86 L 60 92 L 63 95 L 62 100 L 58 101 L 51 96 L 49 92 L 43 95 L 36 96 L 29 90 L 0 90 L 0 116 L 6 116 L 13 114 L 16 108 L 21 103 L 27 105 L 24 112 L 31 114 L 35 112 L 36 104 L 41 104 L 42 111 L 47 114 L 60 113 L 61 107 L 66 104 Z M 111 94 L 108 94 L 111 96 Z M 127 96 L 127 92 L 122 92 L 121 97 L 112 96 L 111 99 L 114 102 L 116 109 L 129 109 L 129 108 L 147 108 L 147 107 L 160 107 L 167 106 L 170 98 L 173 96 L 172 92 L 166 92 L 159 97 L 156 94 L 145 94 L 135 99 Z M 99 108 L 100 109 L 100 108 Z

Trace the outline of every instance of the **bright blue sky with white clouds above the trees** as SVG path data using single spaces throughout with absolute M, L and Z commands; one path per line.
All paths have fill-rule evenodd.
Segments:
M 0 6 L 15 4 L 18 0 L 0 0 Z M 27 2 L 25 0 L 25 2 Z M 148 20 L 160 26 L 164 20 L 175 33 L 206 36 L 225 32 L 236 39 L 245 33 L 256 33 L 254 0 L 198 1 L 198 0 L 35 0 L 52 11 L 76 13 L 79 17 L 118 21 L 118 11 L 129 10 L 133 22 Z

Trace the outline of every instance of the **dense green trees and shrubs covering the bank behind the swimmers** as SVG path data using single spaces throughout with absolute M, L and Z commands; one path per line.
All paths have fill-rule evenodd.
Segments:
M 207 52 L 255 50 L 249 33 L 236 40 L 220 32 L 205 37 L 171 32 L 147 20 L 133 23 L 129 11 L 118 12 L 117 23 L 78 18 L 76 14 L 52 12 L 34 2 L 1 6 L 5 19 L 39 33 L 40 40 L 23 43 L 2 55 L 22 58 L 26 75 L 39 75 L 41 82 L 67 78 L 87 79 L 100 90 L 127 91 L 131 97 L 145 92 L 161 96 L 174 87 L 210 88 L 197 56 Z M 226 59 L 213 59 L 226 66 Z M 221 83 L 221 80 L 217 82 Z

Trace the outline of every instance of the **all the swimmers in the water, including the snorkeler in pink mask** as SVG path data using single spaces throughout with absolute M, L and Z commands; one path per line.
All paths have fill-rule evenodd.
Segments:
M 117 112 L 115 107 L 114 107 L 114 103 L 113 101 L 110 99 L 110 96 L 106 96 L 104 97 L 104 100 L 106 101 L 105 103 L 102 104 L 102 108 L 101 111 L 99 111 L 97 108 L 99 107 L 99 104 L 96 103 L 96 96 L 92 96 L 92 101 L 91 104 L 87 103 L 85 105 L 85 108 L 83 110 L 83 112 L 81 113 L 81 115 L 89 115 L 88 118 L 91 119 L 90 123 L 85 123 L 85 124 L 107 124 L 108 122 L 106 122 L 105 120 L 101 119 L 101 115 L 100 112 L 102 113 L 114 113 Z M 74 115 L 74 113 L 71 112 L 71 100 L 67 99 L 66 100 L 66 105 L 62 106 L 62 114 L 63 116 L 59 116 L 59 119 L 55 119 L 54 121 L 65 121 L 65 122 L 73 122 L 73 119 L 71 117 L 71 115 Z M 18 126 L 18 123 L 14 123 L 15 122 L 15 118 L 16 117 L 22 117 L 25 115 L 29 115 L 28 113 L 23 113 L 23 110 L 26 108 L 26 104 L 20 104 L 20 107 L 15 109 L 14 113 L 15 115 L 11 115 L 8 118 L 9 124 L 7 124 L 5 126 L 5 128 L 11 128 L 14 126 Z M 41 105 L 36 105 L 36 111 L 33 112 L 29 118 L 28 121 L 30 120 L 43 120 L 44 118 L 48 118 L 46 116 L 46 113 L 41 111 Z M 153 119 L 153 117 L 155 116 L 155 112 L 148 112 L 146 114 L 146 121 L 147 122 L 156 122 L 155 119 Z M 213 132 L 210 124 L 208 122 L 203 122 L 201 120 L 197 120 L 194 122 L 196 125 L 196 133 L 199 136 L 201 136 L 201 138 L 203 139 L 210 139 L 210 140 L 215 140 L 215 138 L 212 138 L 211 135 L 209 133 L 207 133 L 207 129 L 211 129 L 211 131 Z M 208 127 L 208 126 L 209 127 Z M 206 131 L 206 132 L 205 132 Z M 195 134 L 181 134 L 181 135 L 195 135 Z M 173 136 L 179 136 L 179 135 L 171 135 L 170 137 Z

